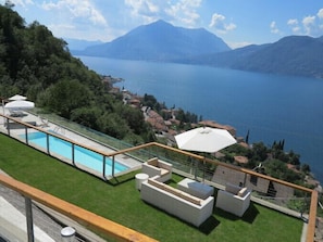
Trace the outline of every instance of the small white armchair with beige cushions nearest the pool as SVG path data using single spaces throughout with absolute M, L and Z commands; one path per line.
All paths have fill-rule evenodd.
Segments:
M 159 181 L 165 182 L 172 178 L 173 165 L 166 162 L 153 157 L 145 162 L 141 166 L 144 174 L 147 174 L 149 177 L 160 176 Z

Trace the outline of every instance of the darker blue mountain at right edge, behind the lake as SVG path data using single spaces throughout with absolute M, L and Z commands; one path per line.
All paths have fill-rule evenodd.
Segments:
M 323 78 L 323 37 L 288 36 L 274 43 L 196 56 L 191 64 Z

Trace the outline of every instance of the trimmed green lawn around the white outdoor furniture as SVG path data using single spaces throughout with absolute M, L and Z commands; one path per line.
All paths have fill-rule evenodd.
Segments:
M 144 203 L 135 173 L 104 182 L 0 135 L 0 168 L 17 180 L 160 241 L 299 241 L 302 221 L 251 203 L 243 218 L 214 208 L 199 229 Z M 173 175 L 172 182 L 182 178 Z

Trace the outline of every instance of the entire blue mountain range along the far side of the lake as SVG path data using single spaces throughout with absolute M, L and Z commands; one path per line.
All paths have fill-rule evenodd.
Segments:
M 71 50 L 74 55 L 176 62 L 241 71 L 323 78 L 323 36 L 288 36 L 274 43 L 232 50 L 203 28 L 164 21 L 141 25 L 107 43 Z

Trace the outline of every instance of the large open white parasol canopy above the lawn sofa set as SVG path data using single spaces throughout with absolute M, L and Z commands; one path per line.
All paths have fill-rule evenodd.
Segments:
M 237 141 L 225 129 L 200 127 L 175 136 L 181 150 L 214 153 Z

